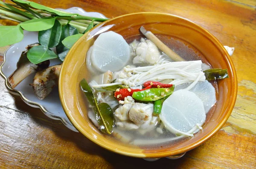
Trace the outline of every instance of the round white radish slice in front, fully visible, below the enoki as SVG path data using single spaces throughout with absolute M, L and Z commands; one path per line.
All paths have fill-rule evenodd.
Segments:
M 195 93 L 177 90 L 164 102 L 159 115 L 166 129 L 173 133 L 193 136 L 191 130 L 204 124 L 204 104 Z

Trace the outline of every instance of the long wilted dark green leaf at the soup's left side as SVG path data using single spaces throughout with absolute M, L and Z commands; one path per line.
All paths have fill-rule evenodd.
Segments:
M 93 107 L 99 129 L 104 133 L 111 134 L 115 121 L 111 107 L 107 103 L 98 103 L 93 90 L 85 79 L 80 82 L 80 85 L 90 105 Z

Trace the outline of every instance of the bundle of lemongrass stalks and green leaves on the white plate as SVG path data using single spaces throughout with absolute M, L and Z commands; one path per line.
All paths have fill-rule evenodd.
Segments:
M 0 26 L 0 47 L 23 39 L 23 30 L 38 31 L 39 46 L 29 49 L 30 62 L 38 64 L 48 59 L 64 60 L 67 52 L 82 34 L 108 19 L 86 17 L 49 8 L 27 0 L 0 1 L 0 19 L 19 23 Z M 56 47 L 57 54 L 50 48 Z

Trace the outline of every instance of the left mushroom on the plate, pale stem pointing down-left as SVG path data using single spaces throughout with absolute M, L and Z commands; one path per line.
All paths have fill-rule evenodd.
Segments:
M 29 51 L 29 49 L 38 45 L 39 43 L 28 45 L 26 47 L 26 51 L 23 51 L 22 54 L 20 55 L 20 59 L 17 62 L 17 69 L 8 78 L 8 82 L 10 83 L 13 89 L 30 74 L 35 73 L 37 70 L 45 69 L 49 66 L 49 60 L 46 60 L 35 65 L 31 63 L 27 58 L 27 52 Z

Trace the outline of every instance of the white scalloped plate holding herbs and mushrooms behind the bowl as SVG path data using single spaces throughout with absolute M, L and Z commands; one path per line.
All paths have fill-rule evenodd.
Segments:
M 82 8 L 78 7 L 59 10 L 75 14 L 81 14 L 84 16 L 106 18 L 103 14 L 100 14 L 98 12 L 86 12 Z M 32 87 L 29 85 L 33 82 L 35 73 L 24 79 L 19 85 L 17 85 L 17 87 L 15 87 L 15 89 L 12 89 L 7 82 L 7 78 L 16 70 L 16 63 L 20 58 L 21 52 L 25 51 L 25 47 L 27 45 L 35 42 L 38 42 L 38 33 L 24 31 L 23 40 L 10 46 L 6 50 L 4 54 L 4 62 L 0 66 L 0 73 L 1 76 L 3 76 L 3 78 L 5 79 L 6 88 L 9 90 L 10 93 L 19 95 L 21 99 L 23 99 L 23 101 L 29 106 L 40 108 L 49 118 L 61 120 L 63 124 L 67 126 L 70 130 L 78 132 L 76 128 L 70 123 L 67 115 L 62 109 L 57 87 L 55 87 L 52 93 L 50 93 L 49 96 L 47 96 L 44 100 L 40 100 L 35 96 Z M 53 48 L 53 51 L 55 51 L 55 48 Z M 50 60 L 50 65 L 56 65 L 60 63 L 61 61 L 59 59 Z

